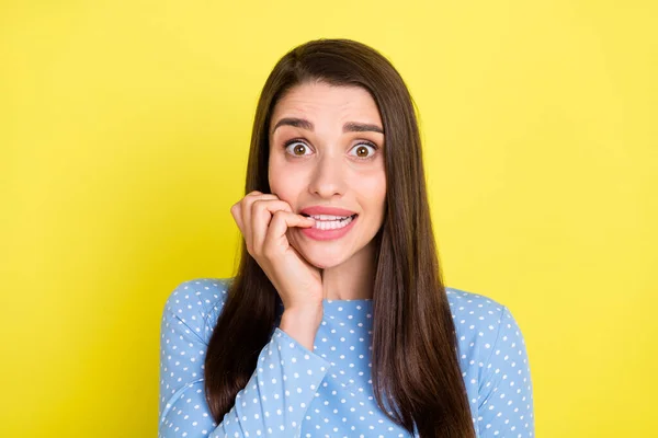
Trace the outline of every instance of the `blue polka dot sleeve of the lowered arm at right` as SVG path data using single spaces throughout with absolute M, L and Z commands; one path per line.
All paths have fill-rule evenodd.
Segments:
M 496 342 L 480 369 L 478 437 L 534 437 L 530 364 L 523 334 L 503 307 Z

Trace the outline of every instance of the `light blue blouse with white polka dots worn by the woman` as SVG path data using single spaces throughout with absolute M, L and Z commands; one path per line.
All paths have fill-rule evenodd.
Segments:
M 325 300 L 314 351 L 276 327 L 234 407 L 214 422 L 205 401 L 204 359 L 230 280 L 184 281 L 167 299 L 159 437 L 411 437 L 384 415 L 373 394 L 367 299 Z M 477 436 L 533 437 L 530 365 L 514 318 L 487 297 L 446 292 Z

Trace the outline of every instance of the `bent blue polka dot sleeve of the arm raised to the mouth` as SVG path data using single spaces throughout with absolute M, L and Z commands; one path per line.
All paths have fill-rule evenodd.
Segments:
M 184 284 L 183 284 L 184 285 Z M 160 339 L 159 438 L 297 437 L 331 364 L 276 327 L 258 366 L 222 422 L 205 400 L 203 334 L 207 314 L 193 290 L 174 290 L 164 306 Z

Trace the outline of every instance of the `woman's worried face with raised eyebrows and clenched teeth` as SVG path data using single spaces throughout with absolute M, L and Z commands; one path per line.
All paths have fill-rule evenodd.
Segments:
M 269 128 L 273 194 L 296 214 L 334 207 L 349 210 L 341 218 L 358 215 L 291 228 L 291 244 L 319 268 L 344 263 L 371 243 L 384 219 L 384 129 L 374 100 L 358 87 L 299 84 L 277 102 Z

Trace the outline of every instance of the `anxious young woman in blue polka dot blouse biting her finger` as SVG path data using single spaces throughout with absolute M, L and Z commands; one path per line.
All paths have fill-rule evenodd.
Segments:
M 445 288 L 409 92 L 348 39 L 262 90 L 234 278 L 182 283 L 161 327 L 160 437 L 532 437 L 523 336 Z

